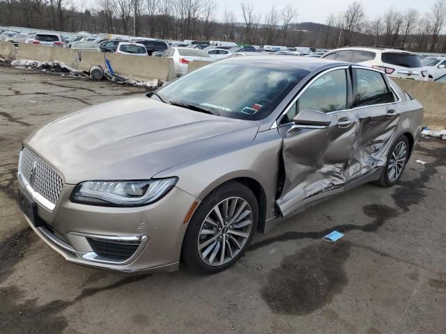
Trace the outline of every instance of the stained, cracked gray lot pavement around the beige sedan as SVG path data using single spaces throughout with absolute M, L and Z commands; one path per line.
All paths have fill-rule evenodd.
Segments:
M 312 207 L 256 235 L 214 276 L 65 262 L 17 206 L 21 141 L 64 113 L 139 93 L 0 67 L 1 333 L 445 333 L 446 144 L 431 138 L 399 185 L 366 184 Z M 346 236 L 328 244 L 332 230 Z

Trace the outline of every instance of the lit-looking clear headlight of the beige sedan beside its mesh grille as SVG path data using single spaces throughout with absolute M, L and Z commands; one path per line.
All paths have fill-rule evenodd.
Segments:
M 139 207 L 166 195 L 178 177 L 142 181 L 87 181 L 77 184 L 72 202 L 107 207 Z

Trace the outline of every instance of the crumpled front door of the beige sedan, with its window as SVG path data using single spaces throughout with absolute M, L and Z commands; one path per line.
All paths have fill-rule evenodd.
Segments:
M 282 161 L 285 177 L 277 199 L 282 214 L 313 196 L 343 186 L 350 179 L 350 166 L 357 132 L 351 106 L 351 71 L 348 67 L 330 69 L 303 88 L 282 118 Z M 323 129 L 293 130 L 293 118 L 305 109 L 325 112 L 331 123 Z

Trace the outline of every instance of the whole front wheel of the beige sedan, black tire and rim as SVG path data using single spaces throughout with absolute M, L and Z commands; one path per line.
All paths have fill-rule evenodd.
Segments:
M 181 258 L 196 273 L 231 267 L 245 252 L 259 221 L 256 196 L 240 182 L 217 187 L 201 202 L 187 227 Z

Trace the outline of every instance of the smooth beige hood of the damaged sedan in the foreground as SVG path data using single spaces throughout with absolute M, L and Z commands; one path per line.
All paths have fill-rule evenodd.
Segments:
M 254 140 L 259 125 L 136 97 L 92 106 L 37 129 L 24 144 L 64 182 L 143 180 Z M 175 176 L 175 175 L 172 175 Z

